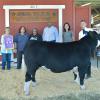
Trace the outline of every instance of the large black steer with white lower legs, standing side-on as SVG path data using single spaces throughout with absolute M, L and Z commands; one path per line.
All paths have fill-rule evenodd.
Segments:
M 54 73 L 61 73 L 78 67 L 81 87 L 90 64 L 91 50 L 94 50 L 100 35 L 95 31 L 79 41 L 53 43 L 29 40 L 25 47 L 24 59 L 27 67 L 24 91 L 29 94 L 30 81 L 35 85 L 35 74 L 39 67 L 45 66 Z

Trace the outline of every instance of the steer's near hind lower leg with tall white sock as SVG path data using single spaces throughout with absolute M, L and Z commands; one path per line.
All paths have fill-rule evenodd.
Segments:
M 24 91 L 26 95 L 29 95 L 29 87 L 30 87 L 30 83 L 31 83 L 31 74 L 29 74 L 28 72 L 26 72 L 25 75 L 25 84 L 24 84 Z

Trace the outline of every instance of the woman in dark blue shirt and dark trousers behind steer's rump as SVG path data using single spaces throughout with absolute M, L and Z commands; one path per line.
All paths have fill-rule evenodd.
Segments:
M 22 55 L 24 53 L 24 47 L 29 39 L 29 34 L 26 32 L 26 28 L 21 26 L 19 32 L 14 36 L 15 47 L 17 49 L 17 69 L 21 69 Z

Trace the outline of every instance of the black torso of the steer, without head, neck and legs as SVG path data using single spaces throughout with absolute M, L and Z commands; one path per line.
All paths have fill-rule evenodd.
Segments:
M 85 55 L 86 52 L 87 55 Z M 79 42 L 48 43 L 29 41 L 24 54 L 27 67 L 46 66 L 53 72 L 70 70 L 75 66 L 87 64 L 89 61 L 87 60 L 89 59 L 88 50 Z

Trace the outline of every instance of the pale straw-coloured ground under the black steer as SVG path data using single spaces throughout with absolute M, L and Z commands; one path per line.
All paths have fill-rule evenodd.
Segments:
M 53 97 L 70 93 L 100 93 L 100 68 L 92 68 L 92 78 L 85 80 L 86 90 L 80 90 L 79 85 L 73 81 L 72 71 L 64 73 L 52 73 L 40 68 L 36 73 L 37 85 L 30 86 L 30 96 L 26 97 L 23 91 L 25 71 L 12 68 L 0 69 L 0 97 L 5 100 L 22 97 Z M 1 100 L 1 99 L 0 99 Z M 4 99 L 2 99 L 4 100 Z

